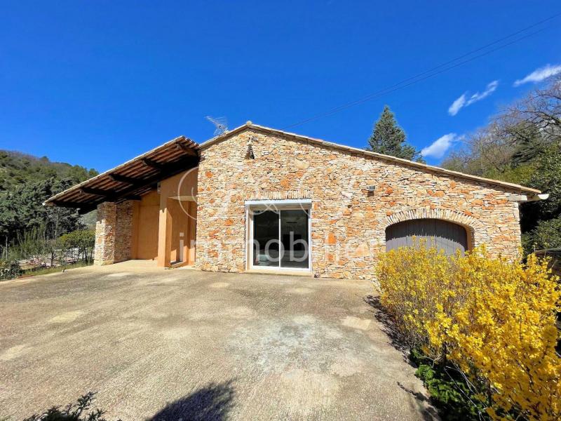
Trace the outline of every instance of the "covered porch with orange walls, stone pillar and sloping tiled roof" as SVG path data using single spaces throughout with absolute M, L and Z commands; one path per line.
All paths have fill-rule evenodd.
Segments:
M 180 136 L 57 194 L 45 206 L 97 208 L 95 262 L 193 265 L 198 144 Z

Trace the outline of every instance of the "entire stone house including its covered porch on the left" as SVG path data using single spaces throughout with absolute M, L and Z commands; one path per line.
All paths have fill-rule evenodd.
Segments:
M 377 255 L 427 239 L 517 258 L 538 190 L 251 122 L 176 138 L 46 201 L 97 208 L 95 264 L 370 279 Z

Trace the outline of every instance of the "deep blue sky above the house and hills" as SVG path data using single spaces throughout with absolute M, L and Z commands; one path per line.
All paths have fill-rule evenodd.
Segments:
M 211 138 L 207 115 L 285 128 L 561 12 L 559 1 L 539 4 L 1 2 L 0 148 L 104 171 L 177 135 Z M 442 145 L 458 144 L 452 133 L 484 125 L 536 83 L 515 81 L 561 65 L 561 16 L 542 28 L 289 130 L 364 147 L 388 104 L 413 145 L 440 139 L 427 157 L 438 163 Z

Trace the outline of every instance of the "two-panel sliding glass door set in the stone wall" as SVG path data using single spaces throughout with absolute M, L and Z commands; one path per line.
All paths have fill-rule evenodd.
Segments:
M 309 209 L 250 208 L 251 267 L 310 268 Z

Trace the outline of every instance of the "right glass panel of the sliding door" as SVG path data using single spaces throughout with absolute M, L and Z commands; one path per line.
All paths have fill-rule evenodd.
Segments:
M 308 269 L 309 215 L 306 210 L 280 210 L 280 267 Z

